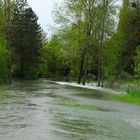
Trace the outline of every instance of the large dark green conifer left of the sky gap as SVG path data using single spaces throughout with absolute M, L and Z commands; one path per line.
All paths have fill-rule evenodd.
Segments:
M 16 72 L 21 78 L 37 78 L 41 63 L 42 30 L 38 17 L 25 3 L 16 7 L 12 26 L 12 50 L 16 60 Z

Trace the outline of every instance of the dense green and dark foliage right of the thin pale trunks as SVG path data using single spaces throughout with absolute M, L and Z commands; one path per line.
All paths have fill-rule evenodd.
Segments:
M 134 71 L 138 72 L 138 55 L 135 59 L 134 56 L 135 52 L 138 53 L 136 48 L 140 43 L 139 20 L 139 11 L 132 8 L 128 0 L 124 0 L 117 31 L 105 43 L 105 77 L 115 75 L 129 79 L 128 75 L 134 75 Z M 121 77 L 124 73 L 127 75 Z

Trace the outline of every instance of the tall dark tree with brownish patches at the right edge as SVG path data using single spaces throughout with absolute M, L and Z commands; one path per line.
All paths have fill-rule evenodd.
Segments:
M 139 21 L 140 11 L 133 8 L 129 0 L 123 0 L 123 7 L 120 11 L 118 33 L 122 34 L 122 55 L 121 69 L 131 75 L 134 74 L 134 56 L 137 46 L 140 44 Z

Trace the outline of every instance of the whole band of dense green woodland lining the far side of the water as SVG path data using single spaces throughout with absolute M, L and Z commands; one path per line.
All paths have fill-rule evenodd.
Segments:
M 0 81 L 138 79 L 140 3 L 118 2 L 64 0 L 53 11 L 53 35 L 44 38 L 27 1 L 0 0 Z

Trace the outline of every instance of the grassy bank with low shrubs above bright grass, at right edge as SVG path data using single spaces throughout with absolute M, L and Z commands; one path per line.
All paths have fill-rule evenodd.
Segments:
M 122 102 L 140 105 L 140 80 L 126 76 L 125 78 L 112 78 L 105 81 L 105 87 L 116 91 L 124 91 L 127 94 L 111 95 L 111 99 L 116 99 Z

